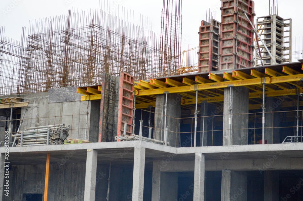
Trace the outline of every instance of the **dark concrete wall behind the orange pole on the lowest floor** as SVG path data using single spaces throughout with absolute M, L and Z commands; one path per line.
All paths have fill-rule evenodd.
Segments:
M 3 199 L 22 200 L 23 193 L 44 194 L 45 164 L 12 166 L 10 170 L 10 197 Z M 48 187 L 49 201 L 83 200 L 85 164 L 50 165 Z

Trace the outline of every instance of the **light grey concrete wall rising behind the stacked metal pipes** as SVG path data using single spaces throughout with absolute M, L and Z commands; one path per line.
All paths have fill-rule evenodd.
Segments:
M 11 96 L 17 97 L 17 95 Z M 64 123 L 71 126 L 69 138 L 88 140 L 90 138 L 88 133 L 90 133 L 91 140 L 97 142 L 96 118 L 98 118 L 100 108 L 97 106 L 98 101 L 79 101 L 81 95 L 76 93 L 75 87 L 52 89 L 50 92 L 25 94 L 18 97 L 24 98 L 24 102 L 29 102 L 28 107 L 23 107 L 21 110 L 21 118 L 24 120 L 20 131 L 26 127 Z M 92 128 L 92 131 L 89 131 L 89 128 Z

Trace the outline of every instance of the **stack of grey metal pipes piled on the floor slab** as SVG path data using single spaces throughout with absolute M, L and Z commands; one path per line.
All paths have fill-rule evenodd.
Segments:
M 12 137 L 18 140 L 18 146 L 63 144 L 67 140 L 70 126 L 65 124 L 25 128 Z

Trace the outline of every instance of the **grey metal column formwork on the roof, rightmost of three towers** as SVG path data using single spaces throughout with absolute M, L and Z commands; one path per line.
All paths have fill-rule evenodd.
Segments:
M 292 20 L 283 19 L 280 16 L 268 15 L 258 17 L 256 20 L 257 31 L 260 37 L 270 50 L 275 61 L 271 59 L 266 52 L 264 44 L 257 41 L 260 45 L 260 53 L 265 65 L 274 65 L 275 63 L 291 62 L 291 32 Z M 256 57 L 255 66 L 261 66 L 260 58 Z

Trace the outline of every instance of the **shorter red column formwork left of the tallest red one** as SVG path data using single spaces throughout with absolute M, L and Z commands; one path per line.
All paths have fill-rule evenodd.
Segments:
M 210 72 L 218 69 L 220 23 L 201 21 L 199 30 L 198 72 Z

